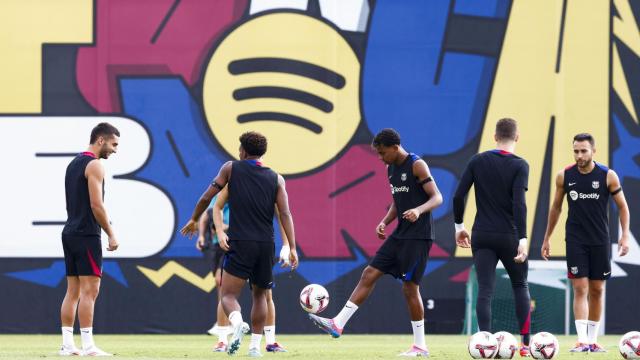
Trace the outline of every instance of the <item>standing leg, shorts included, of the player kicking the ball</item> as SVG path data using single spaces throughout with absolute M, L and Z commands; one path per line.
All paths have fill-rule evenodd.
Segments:
M 403 356 L 429 356 L 424 337 L 424 305 L 420 295 L 420 282 L 427 268 L 427 259 L 433 241 L 403 240 L 398 251 L 398 268 L 403 276 L 402 293 L 407 302 L 413 346 Z

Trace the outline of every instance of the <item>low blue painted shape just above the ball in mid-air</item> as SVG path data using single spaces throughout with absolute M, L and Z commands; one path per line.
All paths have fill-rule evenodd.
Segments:
M 355 259 L 340 261 L 304 260 L 300 262 L 300 266 L 296 271 L 309 283 L 320 285 L 329 284 L 367 263 L 367 257 L 358 248 L 351 248 L 351 252 L 354 254 Z M 279 266 L 273 269 L 274 275 L 287 273 L 289 271 L 289 268 L 282 269 Z

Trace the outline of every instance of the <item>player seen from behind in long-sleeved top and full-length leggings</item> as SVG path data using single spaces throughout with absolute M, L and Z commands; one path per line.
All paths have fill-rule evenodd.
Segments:
M 527 274 L 527 205 L 525 192 L 529 165 L 513 152 L 518 125 L 500 119 L 494 139 L 496 149 L 474 155 L 462 174 L 453 197 L 456 243 L 471 247 L 478 278 L 476 315 L 480 331 L 491 331 L 491 298 L 496 282 L 496 265 L 502 262 L 513 289 L 522 345 L 520 356 L 529 356 L 531 299 Z M 465 199 L 475 188 L 478 212 L 473 222 L 473 241 L 462 224 Z

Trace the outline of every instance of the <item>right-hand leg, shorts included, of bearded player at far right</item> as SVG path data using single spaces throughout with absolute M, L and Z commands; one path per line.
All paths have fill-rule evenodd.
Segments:
M 587 320 L 587 342 L 590 351 L 606 352 L 598 344 L 598 331 L 604 307 L 605 282 L 611 277 L 611 247 L 589 248 L 589 316 Z

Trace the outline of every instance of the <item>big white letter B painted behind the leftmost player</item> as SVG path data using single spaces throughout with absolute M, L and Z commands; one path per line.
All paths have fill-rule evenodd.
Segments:
M 34 226 L 34 221 L 65 221 L 64 176 L 72 157 L 36 157 L 36 153 L 79 153 L 87 149 L 91 129 L 109 122 L 120 131 L 118 152 L 105 166 L 105 205 L 120 241 L 105 257 L 146 257 L 170 241 L 174 209 L 170 199 L 145 182 L 114 179 L 140 168 L 151 151 L 146 130 L 124 117 L 0 117 L 0 257 L 62 257 L 61 225 Z M 103 245 L 107 237 L 103 234 Z

